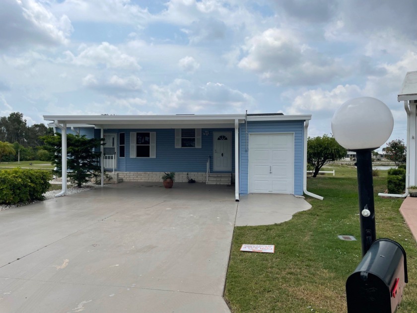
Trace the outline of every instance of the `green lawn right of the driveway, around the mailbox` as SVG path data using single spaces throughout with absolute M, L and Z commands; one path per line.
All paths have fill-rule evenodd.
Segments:
M 282 224 L 235 228 L 225 288 L 232 312 L 346 312 L 346 280 L 361 259 L 357 181 L 354 167 L 333 168 L 336 176 L 308 178 L 307 189 L 324 197 L 307 197 L 311 210 Z M 379 172 L 377 237 L 405 248 L 409 284 L 398 312 L 417 312 L 416 241 L 399 212 L 403 200 L 377 196 L 386 189 L 386 171 Z M 240 252 L 243 243 L 275 244 L 275 253 Z

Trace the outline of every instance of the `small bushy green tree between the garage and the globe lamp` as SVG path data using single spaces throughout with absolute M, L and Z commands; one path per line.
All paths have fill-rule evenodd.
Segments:
M 346 149 L 339 145 L 335 138 L 326 134 L 323 137 L 309 137 L 307 141 L 307 163 L 314 167 L 313 177 L 317 176 L 323 165 L 345 157 L 346 152 Z

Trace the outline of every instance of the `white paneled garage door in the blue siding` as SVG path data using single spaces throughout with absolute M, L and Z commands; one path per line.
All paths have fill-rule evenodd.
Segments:
M 294 193 L 294 134 L 249 135 L 249 192 Z

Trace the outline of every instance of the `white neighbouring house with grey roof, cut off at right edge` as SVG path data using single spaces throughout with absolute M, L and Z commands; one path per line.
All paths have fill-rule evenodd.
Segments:
M 404 78 L 398 101 L 404 101 L 407 113 L 407 175 L 406 187 L 417 185 L 417 71 L 408 72 Z

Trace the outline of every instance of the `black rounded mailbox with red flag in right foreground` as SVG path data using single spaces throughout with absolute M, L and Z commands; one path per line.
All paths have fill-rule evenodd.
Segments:
M 396 241 L 375 240 L 346 282 L 348 313 L 394 313 L 408 283 L 407 257 Z

